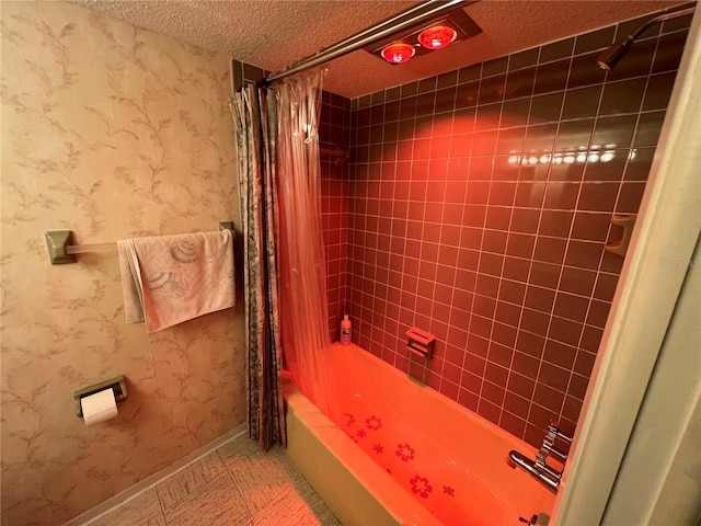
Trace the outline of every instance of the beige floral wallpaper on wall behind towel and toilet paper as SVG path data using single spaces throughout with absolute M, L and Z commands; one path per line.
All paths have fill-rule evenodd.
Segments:
M 44 241 L 238 226 L 229 60 L 62 2 L 1 23 L 2 524 L 55 525 L 245 420 L 241 300 L 147 335 L 116 253 L 51 266 Z M 119 415 L 85 427 L 73 390 L 119 374 Z

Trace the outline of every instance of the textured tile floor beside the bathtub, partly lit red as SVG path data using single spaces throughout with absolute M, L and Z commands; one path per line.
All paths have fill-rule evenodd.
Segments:
M 289 461 L 243 435 L 90 526 L 341 526 Z

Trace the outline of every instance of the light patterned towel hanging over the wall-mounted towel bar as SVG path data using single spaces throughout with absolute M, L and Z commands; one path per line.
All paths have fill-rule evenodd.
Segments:
M 233 307 L 230 230 L 117 241 L 127 323 L 160 331 Z

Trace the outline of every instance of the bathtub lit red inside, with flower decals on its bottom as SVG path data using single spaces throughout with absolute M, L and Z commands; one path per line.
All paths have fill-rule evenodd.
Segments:
M 336 426 L 285 377 L 287 454 L 345 525 L 518 525 L 554 495 L 510 449 L 535 449 L 356 345 L 332 348 Z

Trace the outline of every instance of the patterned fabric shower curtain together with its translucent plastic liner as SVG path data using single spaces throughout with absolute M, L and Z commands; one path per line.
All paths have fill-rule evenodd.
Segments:
M 249 434 L 262 448 L 286 446 L 283 362 L 295 385 L 337 422 L 325 374 L 331 339 L 319 195 L 322 75 L 295 76 L 269 89 L 246 85 L 232 101 L 248 259 Z

